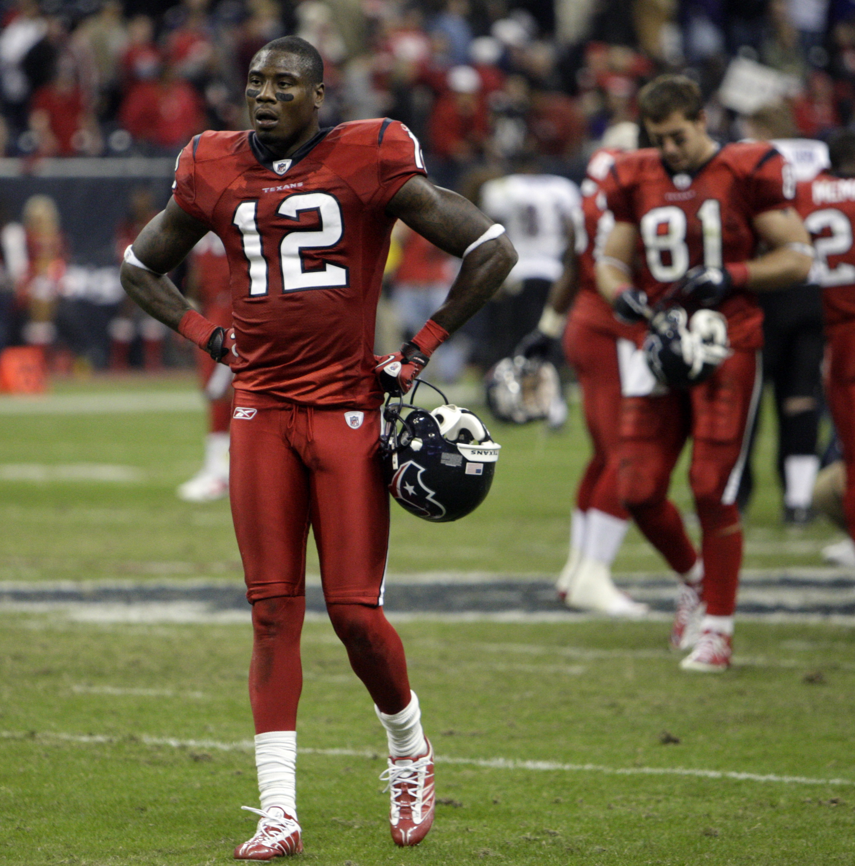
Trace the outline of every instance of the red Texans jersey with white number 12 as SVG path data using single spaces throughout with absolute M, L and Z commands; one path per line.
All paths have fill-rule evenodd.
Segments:
M 203 132 L 178 158 L 174 195 L 223 241 L 240 360 L 235 388 L 282 400 L 373 409 L 374 319 L 393 216 L 424 174 L 395 120 L 325 129 L 275 159 L 255 132 Z

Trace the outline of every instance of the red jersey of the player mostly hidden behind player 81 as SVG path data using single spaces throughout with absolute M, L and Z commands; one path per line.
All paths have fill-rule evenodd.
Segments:
M 614 317 L 612 305 L 597 289 L 596 262 L 600 249 L 614 225 L 612 211 L 607 209 L 607 189 L 612 183 L 612 165 L 619 152 L 600 150 L 588 163 L 588 176 L 582 181 L 582 207 L 573 228 L 576 233 L 576 268 L 579 294 L 571 315 L 597 331 L 625 339 L 644 339 L 646 326 L 624 325 Z

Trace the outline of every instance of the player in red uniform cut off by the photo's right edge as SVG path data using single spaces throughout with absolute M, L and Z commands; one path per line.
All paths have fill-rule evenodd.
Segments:
M 826 397 L 843 448 L 843 510 L 855 538 L 855 132 L 828 143 L 831 169 L 799 184 L 796 208 L 813 238 L 811 281 L 822 288 Z

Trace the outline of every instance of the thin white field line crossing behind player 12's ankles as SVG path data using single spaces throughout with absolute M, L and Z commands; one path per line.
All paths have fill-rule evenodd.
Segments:
M 0 731 L 3 740 L 59 740 L 81 744 L 97 743 L 134 743 L 145 746 L 172 746 L 172 748 L 215 749 L 219 752 L 252 752 L 255 750 L 253 740 L 237 740 L 232 743 L 217 740 L 178 740 L 175 737 L 148 737 L 146 735 L 133 738 L 108 737 L 101 734 L 62 734 L 44 732 L 26 734 L 16 731 Z M 299 748 L 301 754 L 322 755 L 328 757 L 369 758 L 378 759 L 380 752 L 376 749 L 315 749 Z M 781 785 L 855 785 L 853 779 L 813 779 L 809 776 L 786 776 L 778 773 L 736 772 L 733 770 L 696 770 L 683 766 L 628 766 L 613 767 L 599 764 L 565 764 L 560 761 L 548 760 L 518 760 L 510 758 L 452 758 L 437 755 L 437 764 L 458 766 L 482 766 L 490 770 L 530 770 L 533 772 L 595 772 L 606 776 L 685 776 L 695 779 L 733 779 L 737 782 L 775 782 Z

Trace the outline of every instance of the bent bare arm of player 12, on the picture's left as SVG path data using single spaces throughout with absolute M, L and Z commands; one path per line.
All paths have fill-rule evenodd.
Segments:
M 152 217 L 133 242 L 134 255 L 151 271 L 128 262 L 122 265 L 122 288 L 146 313 L 173 330 L 191 307 L 165 274 L 184 261 L 207 231 L 204 223 L 170 199 L 165 210 Z

